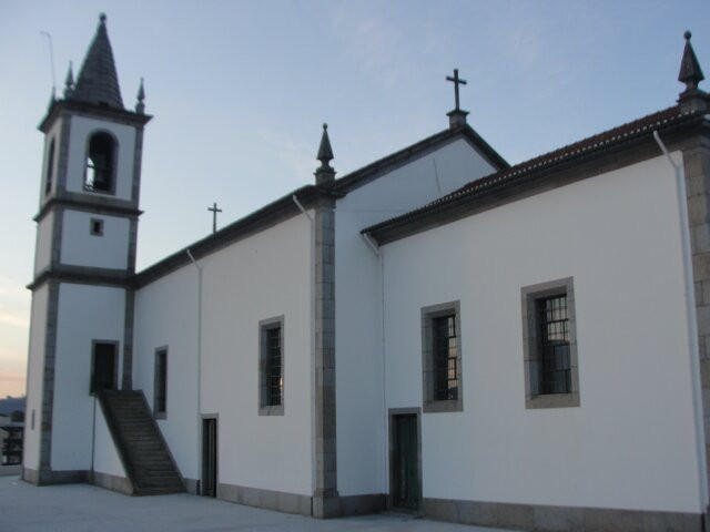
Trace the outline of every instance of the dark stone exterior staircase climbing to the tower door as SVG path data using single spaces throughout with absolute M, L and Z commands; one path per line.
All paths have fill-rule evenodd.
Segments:
M 142 391 L 101 390 L 99 402 L 134 495 L 185 491 Z

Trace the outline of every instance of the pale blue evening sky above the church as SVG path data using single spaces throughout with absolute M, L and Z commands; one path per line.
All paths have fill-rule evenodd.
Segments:
M 0 0 L 0 396 L 24 389 L 42 135 L 52 85 L 108 14 L 123 101 L 145 78 L 139 269 L 313 181 L 469 123 L 510 163 L 672 105 L 682 33 L 710 75 L 710 1 Z M 710 90 L 710 83 L 701 88 Z

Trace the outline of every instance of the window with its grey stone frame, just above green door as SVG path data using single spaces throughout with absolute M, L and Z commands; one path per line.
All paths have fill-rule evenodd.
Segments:
M 459 301 L 422 309 L 424 412 L 462 411 Z

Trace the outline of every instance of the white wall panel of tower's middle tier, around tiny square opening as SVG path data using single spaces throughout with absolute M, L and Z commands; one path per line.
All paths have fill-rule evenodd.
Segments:
M 103 221 L 103 236 L 91 234 L 92 219 Z M 78 266 L 125 269 L 130 229 L 128 218 L 64 211 L 60 260 Z

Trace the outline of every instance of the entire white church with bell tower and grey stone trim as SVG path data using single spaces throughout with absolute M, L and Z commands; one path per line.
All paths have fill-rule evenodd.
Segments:
M 142 83 L 123 103 L 102 16 L 39 126 L 22 478 L 707 530 L 710 98 L 690 38 L 677 103 L 515 166 L 458 98 L 448 127 L 338 178 L 324 125 L 312 183 L 135 272 L 151 116 Z

